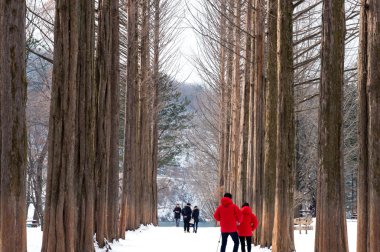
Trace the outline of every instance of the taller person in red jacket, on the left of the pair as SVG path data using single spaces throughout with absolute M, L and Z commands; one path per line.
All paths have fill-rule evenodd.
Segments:
M 215 220 L 220 222 L 220 231 L 222 233 L 221 252 L 226 251 L 227 238 L 229 235 L 234 241 L 233 252 L 237 252 L 239 249 L 237 226 L 242 221 L 242 217 L 239 207 L 232 202 L 232 194 L 225 193 L 224 197 L 220 200 L 220 206 L 218 206 L 214 213 Z

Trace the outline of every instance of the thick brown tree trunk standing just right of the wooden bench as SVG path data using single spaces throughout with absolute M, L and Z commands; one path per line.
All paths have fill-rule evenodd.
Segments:
M 342 155 L 344 0 L 324 0 L 322 12 L 315 251 L 348 251 Z

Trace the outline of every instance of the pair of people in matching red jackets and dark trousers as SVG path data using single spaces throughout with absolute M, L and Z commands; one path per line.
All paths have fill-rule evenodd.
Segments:
M 244 203 L 242 208 L 239 209 L 232 202 L 232 195 L 225 193 L 220 201 L 220 206 L 214 213 L 214 218 L 220 222 L 222 233 L 221 252 L 226 251 L 228 236 L 231 236 L 234 242 L 233 252 L 238 251 L 239 240 L 241 251 L 245 252 L 245 242 L 247 242 L 248 252 L 251 252 L 252 232 L 257 228 L 258 220 L 252 213 L 248 203 Z

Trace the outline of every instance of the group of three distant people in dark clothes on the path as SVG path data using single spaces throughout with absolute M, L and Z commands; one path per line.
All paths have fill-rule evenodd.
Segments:
M 184 232 L 190 233 L 190 223 L 193 225 L 193 233 L 198 232 L 199 208 L 197 206 L 194 206 L 194 209 L 191 209 L 191 204 L 187 203 L 186 206 L 181 209 L 179 204 L 176 204 L 173 212 L 177 227 L 179 227 L 179 222 L 182 215 Z

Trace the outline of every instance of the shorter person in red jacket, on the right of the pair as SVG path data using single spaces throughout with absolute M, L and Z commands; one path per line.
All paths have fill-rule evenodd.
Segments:
M 238 226 L 239 240 L 241 243 L 241 251 L 245 252 L 245 241 L 247 240 L 248 252 L 251 252 L 252 232 L 257 228 L 259 222 L 256 215 L 252 213 L 248 203 L 244 203 L 241 212 L 243 219 Z

